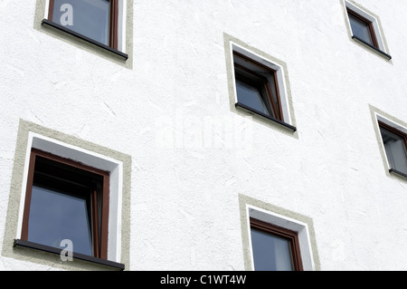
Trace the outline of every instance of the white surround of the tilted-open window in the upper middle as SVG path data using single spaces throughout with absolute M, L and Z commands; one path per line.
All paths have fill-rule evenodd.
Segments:
M 287 86 L 286 86 L 286 82 L 284 79 L 284 73 L 285 73 L 284 68 L 281 65 L 274 63 L 274 62 L 268 60 L 267 58 L 260 56 L 257 53 L 253 53 L 253 52 L 249 51 L 248 49 L 242 47 L 241 45 L 239 45 L 237 43 L 233 43 L 231 41 L 230 45 L 231 45 L 230 57 L 232 60 L 233 60 L 233 52 L 241 53 L 256 62 L 269 67 L 270 69 L 272 69 L 276 72 L 277 82 L 279 84 L 278 85 L 279 101 L 281 101 L 281 110 L 282 110 L 282 114 L 284 116 L 284 122 L 292 124 L 291 114 L 289 113 L 289 99 L 288 99 L 288 92 L 286 90 Z M 232 65 L 232 75 L 234 75 L 234 65 Z M 236 92 L 236 79 L 235 79 L 235 77 L 233 77 L 232 79 L 233 79 L 234 98 L 235 98 L 235 103 L 236 103 L 236 102 L 238 102 L 237 92 Z

